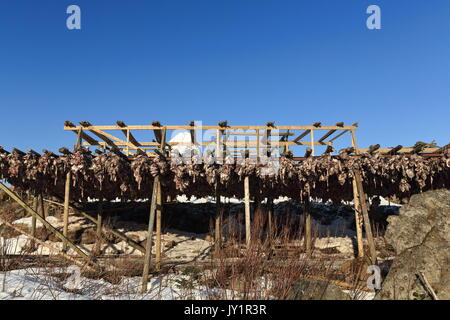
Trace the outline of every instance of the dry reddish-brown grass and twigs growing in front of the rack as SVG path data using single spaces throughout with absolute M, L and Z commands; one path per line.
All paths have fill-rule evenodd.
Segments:
M 346 270 L 339 270 L 333 265 L 333 256 L 337 254 L 335 248 L 313 249 L 305 252 L 303 247 L 303 222 L 294 217 L 290 210 L 281 215 L 282 219 L 273 221 L 273 230 L 269 232 L 268 214 L 265 208 L 255 210 L 252 217 L 252 239 L 250 245 L 245 245 L 245 233 L 242 228 L 230 228 L 227 232 L 226 242 L 220 250 L 213 252 L 210 259 L 201 265 L 187 265 L 175 270 L 164 267 L 162 271 L 152 270 L 155 277 L 160 279 L 162 290 L 164 283 L 168 283 L 173 273 L 180 275 L 177 288 L 181 289 L 184 298 L 195 298 L 195 290 L 205 287 L 209 290 L 209 299 L 288 299 L 295 283 L 300 279 L 321 280 L 346 285 L 345 289 L 354 292 L 353 297 L 358 298 L 358 290 L 364 281 L 364 264 L 358 261 L 350 263 Z M 236 220 L 243 220 L 243 214 Z M 295 221 L 295 223 L 293 223 Z M 45 230 L 44 230 L 45 231 Z M 44 233 L 44 231 L 42 231 Z M 313 230 L 313 248 L 317 230 Z M 42 235 L 45 237 L 45 234 Z M 39 236 L 38 236 L 39 237 Z M 114 239 L 97 239 L 98 248 Z M 5 248 L 3 248 L 5 250 Z M 15 260 L 5 259 L 0 247 L 0 270 L 18 269 L 25 265 L 18 256 Z M 100 250 L 94 250 L 91 258 L 102 259 Z M 2 258 L 3 257 L 3 258 Z M 52 264 L 53 263 L 53 264 Z M 121 283 L 124 277 L 141 277 L 143 270 L 142 259 L 117 257 L 109 260 L 102 271 L 83 271 L 85 279 L 81 283 L 83 292 L 95 292 L 90 279 L 103 279 L 112 285 Z M 35 264 L 35 270 L 43 276 L 46 286 L 70 291 L 64 283 L 70 276 L 67 272 L 67 263 L 43 262 Z M 60 268 L 59 271 L 55 271 Z M 113 287 L 107 287 L 108 290 Z M 104 288 L 105 289 L 105 288 Z M 50 289 L 52 290 L 52 289 Z M 106 289 L 105 289 L 106 290 Z M 56 292 L 56 291 L 55 291 Z M 122 288 L 120 294 L 134 294 L 136 288 Z M 111 292 L 114 295 L 114 292 Z M 58 296 L 55 293 L 55 299 Z

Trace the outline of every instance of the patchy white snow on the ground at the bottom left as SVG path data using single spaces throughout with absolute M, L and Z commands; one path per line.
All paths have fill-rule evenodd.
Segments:
M 148 291 L 141 294 L 141 277 L 122 277 L 120 283 L 111 284 L 103 279 L 77 278 L 76 269 L 71 266 L 64 270 L 27 268 L 0 272 L 0 300 L 204 300 L 230 294 L 204 286 L 189 287 L 186 282 L 190 278 L 184 275 L 151 278 Z M 56 276 L 61 273 L 72 276 L 62 280 Z

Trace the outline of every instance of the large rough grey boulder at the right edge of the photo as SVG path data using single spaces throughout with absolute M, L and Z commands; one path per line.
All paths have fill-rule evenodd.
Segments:
M 385 240 L 397 256 L 375 298 L 431 299 L 422 273 L 439 299 L 450 299 L 450 190 L 414 195 L 388 221 Z

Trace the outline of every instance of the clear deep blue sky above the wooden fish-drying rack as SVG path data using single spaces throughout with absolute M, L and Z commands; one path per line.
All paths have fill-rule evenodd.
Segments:
M 448 0 L 2 0 L 0 145 L 70 147 L 64 120 L 359 121 L 360 146 L 443 145 L 449 39 Z

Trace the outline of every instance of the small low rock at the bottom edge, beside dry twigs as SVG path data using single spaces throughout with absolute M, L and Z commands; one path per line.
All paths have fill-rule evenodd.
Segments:
M 292 286 L 287 300 L 350 300 L 350 296 L 329 281 L 300 279 Z

